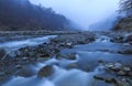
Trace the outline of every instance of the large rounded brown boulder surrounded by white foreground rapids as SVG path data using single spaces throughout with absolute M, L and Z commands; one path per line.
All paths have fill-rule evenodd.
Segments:
M 52 65 L 46 65 L 44 67 L 42 67 L 38 72 L 37 72 L 37 77 L 42 78 L 42 77 L 48 77 L 54 73 L 54 68 Z

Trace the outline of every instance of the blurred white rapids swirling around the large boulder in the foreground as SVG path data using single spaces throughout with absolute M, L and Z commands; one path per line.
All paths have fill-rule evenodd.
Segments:
M 67 60 L 64 60 L 65 62 Z M 75 61 L 67 61 L 68 63 L 75 63 Z M 38 63 L 34 66 L 35 71 L 38 71 L 41 67 L 53 64 L 53 63 L 63 63 L 62 61 L 57 61 L 55 58 L 48 60 L 44 63 Z M 54 65 L 55 73 L 47 78 L 37 78 L 33 77 L 12 77 L 7 84 L 2 86 L 94 86 L 94 75 L 99 74 L 98 68 L 92 73 L 86 73 L 79 69 L 70 69 L 66 71 L 58 66 Z

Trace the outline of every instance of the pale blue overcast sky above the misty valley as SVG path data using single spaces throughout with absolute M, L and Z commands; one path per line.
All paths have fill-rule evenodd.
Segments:
M 119 0 L 30 0 L 32 3 L 53 8 L 77 24 L 87 29 L 90 24 L 111 17 Z

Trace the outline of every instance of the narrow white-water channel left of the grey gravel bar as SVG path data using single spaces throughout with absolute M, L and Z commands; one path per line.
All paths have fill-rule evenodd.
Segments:
M 42 43 L 48 43 L 50 39 L 56 37 L 56 35 L 48 35 L 43 37 L 35 37 L 35 39 L 28 39 L 22 41 L 13 41 L 13 42 L 7 42 L 7 43 L 0 43 L 0 47 L 11 49 L 11 50 L 18 50 L 23 46 L 34 46 Z

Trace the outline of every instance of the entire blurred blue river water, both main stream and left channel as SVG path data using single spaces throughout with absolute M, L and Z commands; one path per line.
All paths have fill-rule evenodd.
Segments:
M 1 43 L 0 47 L 9 47 L 14 51 L 24 46 L 36 46 L 45 42 L 50 43 L 51 37 L 54 39 L 57 35 Z M 132 54 L 120 54 L 118 52 L 131 50 L 132 45 L 111 42 L 111 37 L 105 34 L 96 34 L 95 39 L 95 41 L 89 43 L 80 43 L 73 45 L 70 49 L 62 49 L 59 55 L 54 55 L 46 61 L 36 62 L 33 65 L 31 64 L 32 71 L 36 75 L 31 77 L 12 75 L 1 86 L 116 86 L 113 82 L 106 83 L 102 79 L 95 78 L 95 76 L 109 75 L 112 78 L 118 77 L 114 75 L 114 72 L 113 74 L 106 72 L 106 66 L 110 66 L 108 65 L 109 63 L 112 63 L 112 65 L 118 63 L 131 67 Z M 68 45 L 70 44 L 68 43 Z M 75 58 L 65 57 L 69 56 L 69 54 L 75 54 Z M 48 77 L 38 78 L 37 72 L 46 65 L 52 65 L 54 73 Z M 121 76 L 119 78 L 129 79 L 130 83 L 127 82 L 125 86 L 132 85 L 131 76 Z

